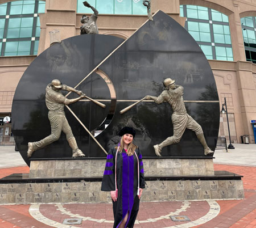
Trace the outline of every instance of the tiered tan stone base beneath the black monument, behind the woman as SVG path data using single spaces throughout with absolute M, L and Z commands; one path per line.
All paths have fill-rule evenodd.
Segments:
M 141 201 L 244 198 L 241 175 L 227 171 L 214 172 L 212 158 L 188 160 L 187 158 L 144 159 L 146 189 L 143 191 Z M 13 174 L 0 179 L 0 204 L 112 201 L 109 192 L 102 192 L 100 190 L 105 159 L 87 158 L 79 160 L 57 159 L 47 162 L 45 160 L 43 161 L 44 166 L 41 164 L 41 161 L 38 161 L 37 171 L 33 168 L 35 167 L 33 165 L 34 161 L 31 161 L 30 174 Z M 61 167 L 59 166 L 60 163 L 69 165 L 59 169 L 57 167 Z M 152 163 L 155 163 L 155 166 Z M 68 176 L 32 177 L 36 172 L 39 175 L 47 175 L 49 172 L 45 174 L 43 169 L 40 170 L 40 167 L 48 166 L 48 164 L 55 167 L 55 170 L 64 170 L 55 172 L 55 175 L 61 174 Z M 76 165 L 73 166 L 73 164 Z M 208 168 L 208 171 L 206 171 L 208 175 L 183 175 L 183 172 L 189 172 L 190 174 L 191 170 L 194 174 L 201 172 L 201 169 L 196 171 L 196 167 L 201 168 L 199 164 L 207 164 L 205 168 Z M 189 166 L 188 170 L 185 170 L 187 165 Z M 82 168 L 80 169 L 80 167 Z M 86 173 L 86 175 L 74 177 L 74 174 L 80 174 L 80 170 L 84 174 Z M 166 174 L 167 171 L 169 173 L 175 172 L 175 175 Z M 210 174 L 212 172 L 213 174 Z M 71 174 L 73 175 L 72 177 L 69 176 Z

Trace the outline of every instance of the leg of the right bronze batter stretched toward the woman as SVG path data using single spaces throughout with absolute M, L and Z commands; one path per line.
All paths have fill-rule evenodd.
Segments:
M 155 153 L 158 156 L 161 156 L 160 153 L 163 147 L 176 144 L 181 140 L 187 126 L 187 116 L 172 114 L 172 124 L 174 125 L 174 135 L 154 146 Z

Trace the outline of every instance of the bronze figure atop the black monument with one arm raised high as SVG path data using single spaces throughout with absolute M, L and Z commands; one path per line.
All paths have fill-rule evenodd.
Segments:
M 80 34 L 98 34 L 98 27 L 96 24 L 96 20 L 98 18 L 98 10 L 96 10 L 93 6 L 91 6 L 88 2 L 83 2 L 84 6 L 93 10 L 92 16 L 82 15 L 81 23 L 82 26 L 80 27 L 81 32 Z

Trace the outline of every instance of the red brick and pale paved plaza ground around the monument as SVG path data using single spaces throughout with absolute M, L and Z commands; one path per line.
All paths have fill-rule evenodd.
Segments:
M 243 175 L 244 200 L 141 202 L 134 228 L 256 227 L 256 145 L 234 147 L 228 153 L 216 150 L 214 170 Z M 0 178 L 29 172 L 14 146 L 0 146 L 0 159 Z M 174 222 L 172 215 L 187 216 L 191 221 Z M 82 218 L 82 223 L 63 225 L 65 218 Z M 112 204 L 0 205 L 0 227 L 113 227 Z

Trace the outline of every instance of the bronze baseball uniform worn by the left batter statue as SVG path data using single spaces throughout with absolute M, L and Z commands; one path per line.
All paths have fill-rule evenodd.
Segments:
M 62 86 L 63 86 L 62 87 L 63 90 L 65 90 L 66 86 L 65 85 L 62 85 Z M 52 142 L 59 140 L 61 130 L 66 134 L 68 141 L 70 141 L 70 139 L 74 137 L 71 127 L 68 124 L 68 120 L 65 117 L 64 101 L 66 99 L 67 98 L 63 96 L 61 91 L 53 90 L 51 84 L 47 85 L 46 106 L 49 109 L 48 119 L 51 124 L 51 134 L 46 138 L 44 138 L 43 140 L 40 140 L 38 142 L 32 142 L 35 150 L 39 150 L 44 146 L 47 146 Z

